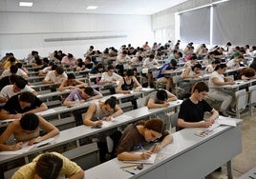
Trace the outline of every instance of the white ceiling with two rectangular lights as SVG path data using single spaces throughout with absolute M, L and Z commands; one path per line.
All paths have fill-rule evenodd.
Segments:
M 0 0 L 0 11 L 105 13 L 150 15 L 177 6 L 187 0 L 21 0 L 33 6 L 19 7 L 18 0 Z M 98 6 L 97 10 L 86 10 Z

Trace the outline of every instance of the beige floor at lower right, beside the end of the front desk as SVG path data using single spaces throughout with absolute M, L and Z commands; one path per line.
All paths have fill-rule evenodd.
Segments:
M 243 151 L 233 160 L 234 179 L 238 179 L 248 170 L 256 167 L 256 111 L 254 116 L 249 117 L 248 112 L 242 115 L 242 145 Z M 226 167 L 221 172 L 213 172 L 206 179 L 226 179 Z

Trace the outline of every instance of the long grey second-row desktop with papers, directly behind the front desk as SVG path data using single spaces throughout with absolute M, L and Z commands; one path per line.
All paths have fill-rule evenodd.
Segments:
M 147 109 L 146 107 L 131 110 L 128 112 L 124 112 L 123 114 L 115 117 L 114 122 L 112 122 L 108 127 L 106 128 L 101 128 L 101 129 L 92 129 L 91 127 L 87 126 L 78 126 L 72 129 L 65 129 L 61 130 L 60 133 L 57 136 L 54 136 L 54 141 L 51 145 L 41 147 L 39 149 L 33 148 L 29 150 L 28 152 L 21 153 L 18 155 L 1 155 L 0 152 L 0 164 L 4 164 L 7 162 L 11 162 L 14 159 L 21 158 L 21 157 L 26 157 L 32 153 L 36 153 L 41 150 L 46 150 L 46 149 L 53 149 L 57 146 L 61 146 L 64 144 L 68 144 L 72 141 L 76 141 L 81 138 L 85 138 L 88 136 L 92 136 L 94 134 L 97 134 L 99 132 L 109 130 L 109 129 L 115 129 L 119 126 L 129 124 L 135 121 L 138 121 L 141 118 L 144 118 L 146 116 L 150 116 L 168 109 L 175 109 L 181 105 L 181 100 L 170 102 L 169 107 L 167 108 L 161 108 L 161 109 Z M 66 108 L 68 109 L 68 108 Z M 53 112 L 52 112 L 53 113 Z M 83 132 L 81 132 L 83 131 Z

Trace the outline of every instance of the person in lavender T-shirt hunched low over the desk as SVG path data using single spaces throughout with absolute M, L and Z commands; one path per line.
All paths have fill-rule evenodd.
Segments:
M 65 99 L 63 102 L 64 106 L 68 105 L 75 105 L 75 97 L 77 96 L 79 103 L 84 103 L 86 101 L 90 101 L 93 99 L 99 99 L 103 97 L 103 95 L 97 91 L 96 89 L 93 89 L 92 87 L 85 87 L 83 89 L 73 89 L 69 96 Z

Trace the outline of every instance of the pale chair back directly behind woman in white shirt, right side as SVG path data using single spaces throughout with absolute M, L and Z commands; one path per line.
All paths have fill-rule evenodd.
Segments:
M 236 110 L 243 110 L 247 105 L 248 94 L 245 89 L 235 92 L 236 97 Z

